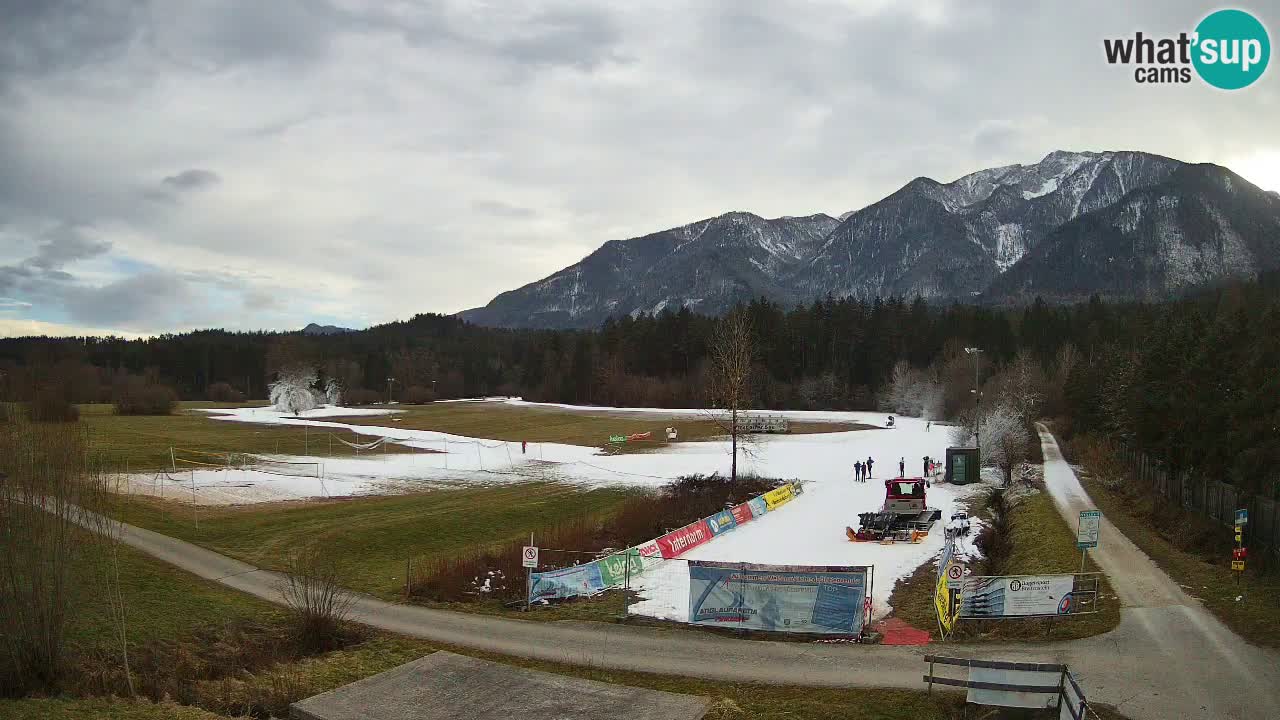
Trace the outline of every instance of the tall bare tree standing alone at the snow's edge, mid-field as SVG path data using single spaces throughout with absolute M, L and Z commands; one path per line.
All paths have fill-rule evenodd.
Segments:
M 751 401 L 755 360 L 751 319 L 744 310 L 736 309 L 719 319 L 712 334 L 709 354 L 708 401 L 717 410 L 712 414 L 713 420 L 730 436 L 733 456 L 730 479 L 736 482 L 737 454 L 745 439 L 741 418 Z

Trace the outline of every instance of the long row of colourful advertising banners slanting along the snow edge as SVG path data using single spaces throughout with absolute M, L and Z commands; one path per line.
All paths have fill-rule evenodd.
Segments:
M 703 518 L 684 528 L 672 530 L 660 538 L 637 544 L 608 557 L 564 568 L 532 573 L 530 578 L 529 602 L 541 600 L 563 600 L 567 597 L 590 597 L 609 588 L 621 588 L 628 577 L 643 574 L 662 560 L 680 557 L 690 550 L 710 541 L 718 534 L 751 521 L 777 507 L 790 502 L 800 493 L 799 486 L 791 483 L 774 488 L 762 496 L 731 509 L 722 510 L 710 518 Z M 772 500 L 772 503 L 769 498 Z

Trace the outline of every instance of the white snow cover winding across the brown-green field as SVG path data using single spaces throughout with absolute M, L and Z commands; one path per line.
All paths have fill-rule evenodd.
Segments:
M 534 405 L 520 400 L 509 405 Z M 556 406 L 570 410 L 593 410 Z M 660 413 L 667 415 L 698 414 L 698 410 L 607 409 L 608 411 Z M 518 442 L 470 438 L 430 430 L 348 425 L 342 415 L 388 414 L 394 410 L 348 410 L 321 407 L 303 419 L 284 416 L 265 407 L 212 410 L 221 421 L 280 423 L 308 425 L 316 430 L 355 441 L 387 437 L 424 454 L 388 454 L 376 451 L 366 457 L 301 457 L 289 461 L 314 461 L 323 466 L 321 478 L 282 477 L 252 470 L 182 471 L 169 478 L 137 475 L 131 478 L 131 491 L 160 492 L 165 496 L 197 502 L 234 503 L 408 492 L 430 487 L 458 484 L 490 484 L 527 480 L 557 480 L 585 487 L 643 486 L 655 487 L 690 473 L 727 473 L 728 442 L 673 443 L 653 452 L 603 455 L 593 447 L 558 443 L 530 443 L 521 454 Z M 874 566 L 873 610 L 877 618 L 888 611 L 893 583 L 910 575 L 942 548 L 942 528 L 957 502 L 977 488 L 934 486 L 928 491 L 931 507 L 942 510 L 943 521 L 918 544 L 854 543 L 845 537 L 846 525 L 856 525 L 858 514 L 876 510 L 884 500 L 883 479 L 896 477 L 899 460 L 906 464 L 908 477 L 919 477 L 925 455 L 942 459 L 946 454 L 945 427 L 928 430 L 923 420 L 899 418 L 895 428 L 883 428 L 881 413 L 782 413 L 796 420 L 847 421 L 876 425 L 878 429 L 823 434 L 762 436 L 753 443 L 739 469 L 805 483 L 804 495 L 776 512 L 717 537 L 690 551 L 691 560 L 719 560 L 791 565 L 872 565 Z M 316 438 L 323 437 L 317 433 Z M 312 441 L 323 446 L 323 441 Z M 870 482 L 855 483 L 852 465 L 873 457 Z M 195 484 L 195 493 L 192 492 Z M 974 534 L 977 528 L 974 528 Z M 970 536 L 972 537 L 972 536 Z M 972 552 L 968 542 L 961 551 Z M 655 618 L 684 620 L 687 616 L 689 578 L 682 561 L 666 562 L 639 583 L 643 601 L 631 611 Z

